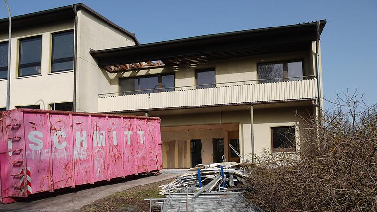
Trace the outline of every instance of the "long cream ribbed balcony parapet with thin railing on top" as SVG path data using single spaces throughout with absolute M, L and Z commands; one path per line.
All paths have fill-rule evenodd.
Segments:
M 303 76 L 303 80 L 287 81 L 289 78 L 266 79 L 277 81 L 241 81 L 213 84 L 214 87 L 196 89 L 195 86 L 175 87 L 174 91 L 157 92 L 140 90 L 141 94 L 100 94 L 98 112 L 157 110 L 220 106 L 274 101 L 291 101 L 317 98 L 317 79 Z M 169 89 L 169 88 L 163 88 Z M 171 88 L 170 88 L 171 89 Z M 150 93 L 148 93 L 150 92 Z M 135 91 L 134 91 L 135 93 Z

